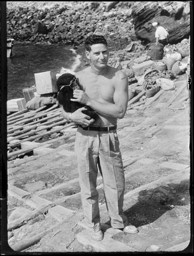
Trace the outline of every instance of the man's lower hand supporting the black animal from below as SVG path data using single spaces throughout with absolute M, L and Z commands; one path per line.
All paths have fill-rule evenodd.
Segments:
M 82 107 L 78 108 L 75 112 L 72 113 L 72 122 L 75 124 L 80 124 L 82 127 L 88 127 L 90 124 L 94 122 L 94 119 L 90 116 L 87 116 L 86 114 L 82 113 L 83 110 L 86 110 L 87 108 Z

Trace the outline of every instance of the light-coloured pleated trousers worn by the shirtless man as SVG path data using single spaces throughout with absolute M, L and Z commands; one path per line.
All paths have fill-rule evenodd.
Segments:
M 123 228 L 124 168 L 116 130 L 98 132 L 78 127 L 75 141 L 82 207 L 86 221 L 92 226 L 100 223 L 96 180 L 102 175 L 104 196 L 111 225 Z

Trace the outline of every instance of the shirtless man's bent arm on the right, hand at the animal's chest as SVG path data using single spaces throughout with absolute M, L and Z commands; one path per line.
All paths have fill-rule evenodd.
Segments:
M 74 90 L 74 98 L 76 99 L 71 100 L 90 106 L 90 108 L 104 116 L 123 118 L 128 106 L 128 76 L 124 72 L 119 71 L 115 84 L 114 103 L 100 102 L 94 98 L 90 98 L 82 90 Z

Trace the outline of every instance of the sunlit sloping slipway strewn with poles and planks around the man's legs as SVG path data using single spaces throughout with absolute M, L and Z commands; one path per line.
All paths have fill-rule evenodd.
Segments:
M 110 227 L 99 176 L 105 233 L 98 242 L 92 241 L 83 221 L 74 156 L 76 127 L 65 124 L 56 106 L 9 116 L 7 230 L 11 249 L 191 252 L 187 75 L 179 76 L 175 85 L 175 90 L 160 90 L 142 105 L 129 104 L 126 116 L 118 121 L 126 176 L 124 211 L 139 232 L 127 234 Z

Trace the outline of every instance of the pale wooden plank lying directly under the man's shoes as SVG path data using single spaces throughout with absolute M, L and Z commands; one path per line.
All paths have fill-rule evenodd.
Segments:
M 78 242 L 84 246 L 91 246 L 95 251 L 103 252 L 120 252 L 120 251 L 136 251 L 136 249 L 125 245 L 109 236 L 104 235 L 104 239 L 101 241 L 94 241 L 92 239 L 92 231 L 89 229 L 84 229 L 80 233 L 76 234 L 76 239 Z

